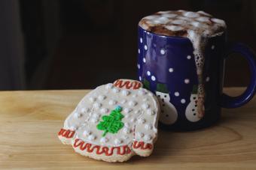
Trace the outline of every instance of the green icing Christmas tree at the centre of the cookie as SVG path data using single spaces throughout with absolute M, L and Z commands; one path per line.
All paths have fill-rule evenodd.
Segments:
M 104 130 L 102 136 L 105 136 L 107 133 L 117 133 L 118 130 L 122 129 L 123 122 L 121 121 L 124 117 L 121 114 L 122 107 L 117 106 L 116 109 L 111 111 L 110 115 L 102 116 L 102 120 L 97 125 L 98 130 Z

